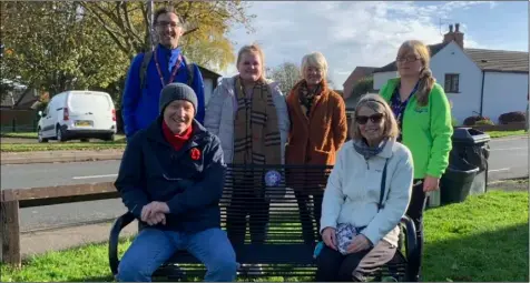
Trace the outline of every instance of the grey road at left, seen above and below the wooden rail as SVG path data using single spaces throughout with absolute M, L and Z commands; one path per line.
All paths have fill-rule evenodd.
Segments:
M 4 190 L 115 181 L 119 162 L 112 160 L 2 165 L 1 188 Z M 27 231 L 30 229 L 109 219 L 119 216 L 125 212 L 126 209 L 120 200 L 27 208 L 20 211 L 20 229 L 21 231 Z

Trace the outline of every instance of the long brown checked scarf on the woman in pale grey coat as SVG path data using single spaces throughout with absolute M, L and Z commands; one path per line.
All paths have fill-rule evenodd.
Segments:
M 241 78 L 235 79 L 234 164 L 281 164 L 278 118 L 268 85 L 257 82 L 247 98 Z

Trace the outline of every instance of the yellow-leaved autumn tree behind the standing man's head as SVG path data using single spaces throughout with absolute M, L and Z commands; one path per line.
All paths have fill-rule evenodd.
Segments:
M 146 1 L 81 1 L 87 17 L 95 19 L 116 47 L 132 58 L 149 50 L 148 7 Z M 220 71 L 234 62 L 234 50 L 226 33 L 234 24 L 252 31 L 254 16 L 246 13 L 243 1 L 165 1 L 155 2 L 155 10 L 173 6 L 185 22 L 187 32 L 179 44 L 195 63 Z

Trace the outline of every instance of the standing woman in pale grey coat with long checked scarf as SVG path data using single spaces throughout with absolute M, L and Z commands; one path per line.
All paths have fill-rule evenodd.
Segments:
M 278 84 L 265 79 L 264 55 L 256 46 L 243 47 L 237 55 L 238 74 L 225 78 L 215 89 L 206 109 L 204 125 L 220 140 L 227 164 L 284 163 L 289 120 Z M 263 178 L 262 178 L 263 180 Z M 261 189 L 253 178 L 238 180 Z M 253 243 L 264 243 L 269 203 L 263 190 L 234 191 L 226 209 L 227 233 L 234 246 L 245 241 L 246 216 Z M 242 184 L 242 183 L 239 183 Z

